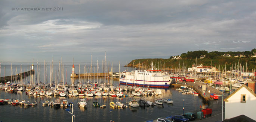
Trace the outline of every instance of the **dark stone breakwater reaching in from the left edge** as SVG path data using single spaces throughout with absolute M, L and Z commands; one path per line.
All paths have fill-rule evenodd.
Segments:
M 0 82 L 4 83 L 4 80 L 7 81 L 16 81 L 16 80 L 20 80 L 21 78 L 30 76 L 31 74 L 35 74 L 35 70 L 30 70 L 30 71 L 26 71 L 24 73 L 19 73 L 16 75 L 12 75 L 12 76 L 5 76 L 5 77 L 1 77 L 0 78 Z

